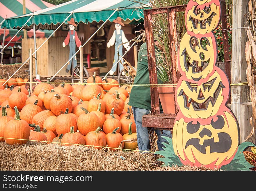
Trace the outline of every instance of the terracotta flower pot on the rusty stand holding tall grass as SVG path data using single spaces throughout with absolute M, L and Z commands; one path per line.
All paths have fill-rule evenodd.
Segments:
M 163 108 L 163 113 L 175 114 L 174 87 L 158 87 L 159 99 Z

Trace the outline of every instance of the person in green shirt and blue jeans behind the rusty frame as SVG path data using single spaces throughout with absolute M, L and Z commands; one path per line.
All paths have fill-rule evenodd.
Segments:
M 159 50 L 159 44 L 155 41 L 155 51 Z M 161 48 L 160 48 L 161 49 Z M 159 78 L 158 83 L 163 83 Z M 150 84 L 148 72 L 148 59 L 147 59 L 147 44 L 144 42 L 138 52 L 138 63 L 134 84 Z M 150 151 L 150 140 L 147 127 L 142 126 L 142 116 L 151 113 L 151 97 L 150 86 L 133 86 L 130 92 L 129 106 L 132 106 L 134 121 L 136 124 L 138 149 L 140 151 Z M 161 103 L 160 113 L 162 113 Z M 158 136 L 157 146 L 158 150 L 163 150 L 162 142 L 167 142 L 163 136 L 172 138 L 171 131 L 163 130 L 162 133 L 159 129 L 154 129 Z

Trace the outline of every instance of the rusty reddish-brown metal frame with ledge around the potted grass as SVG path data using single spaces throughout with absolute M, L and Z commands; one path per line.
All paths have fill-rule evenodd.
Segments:
M 225 58 L 225 72 L 228 78 L 231 78 L 231 65 L 228 55 L 228 40 L 227 40 L 227 15 L 225 0 L 220 0 L 222 4 L 221 10 L 221 22 L 223 32 L 223 45 L 224 45 L 224 58 Z M 177 28 L 176 28 L 176 12 L 182 12 L 186 10 L 187 5 L 169 6 L 162 8 L 154 8 L 144 10 L 144 26 L 146 33 L 146 43 L 148 51 L 148 69 L 149 69 L 149 81 L 150 84 L 157 84 L 157 68 L 156 68 L 156 56 L 154 49 L 154 36 L 153 36 L 153 22 L 152 15 L 167 13 L 168 17 L 168 30 L 170 38 L 170 54 L 172 62 L 172 79 L 173 84 L 177 84 L 180 74 L 178 71 L 178 42 L 177 42 Z M 175 47 L 175 48 L 173 48 Z M 174 87 L 175 90 L 175 87 Z M 152 114 L 144 115 L 142 117 L 142 123 L 145 127 L 153 127 L 158 129 L 172 130 L 173 123 L 176 115 L 160 114 L 159 107 L 159 95 L 158 87 L 150 86 L 151 95 L 151 108 Z M 230 100 L 229 100 L 230 102 Z M 177 111 L 175 104 L 175 113 Z

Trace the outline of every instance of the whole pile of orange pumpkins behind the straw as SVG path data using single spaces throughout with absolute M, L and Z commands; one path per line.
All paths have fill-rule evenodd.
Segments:
M 1 141 L 137 149 L 136 125 L 128 105 L 131 86 L 119 87 L 115 79 L 102 80 L 95 73 L 85 84 L 63 82 L 55 88 L 47 79 L 33 92 L 19 76 L 8 82 L 0 79 Z

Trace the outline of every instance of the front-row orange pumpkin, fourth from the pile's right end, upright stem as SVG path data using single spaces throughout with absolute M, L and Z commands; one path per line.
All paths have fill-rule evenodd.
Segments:
M 64 146 L 71 146 L 72 144 L 85 144 L 85 140 L 82 134 L 74 131 L 74 126 L 71 126 L 70 132 L 63 135 L 61 144 Z

